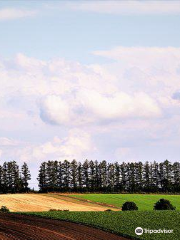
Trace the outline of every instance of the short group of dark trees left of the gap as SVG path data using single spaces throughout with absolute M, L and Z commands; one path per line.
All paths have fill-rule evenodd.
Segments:
M 28 181 L 31 179 L 26 163 L 19 169 L 15 161 L 0 165 L 0 193 L 28 192 Z

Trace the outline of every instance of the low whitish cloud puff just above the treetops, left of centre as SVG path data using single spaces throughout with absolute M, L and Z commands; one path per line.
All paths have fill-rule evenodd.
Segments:
M 90 152 L 96 148 L 93 146 L 89 133 L 80 129 L 71 129 L 67 137 L 54 137 L 52 141 L 40 145 L 29 145 L 17 150 L 16 156 L 21 161 L 47 161 L 56 160 L 84 160 Z

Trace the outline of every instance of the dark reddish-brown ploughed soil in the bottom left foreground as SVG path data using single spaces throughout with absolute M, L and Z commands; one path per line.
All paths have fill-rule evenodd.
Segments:
M 24 216 L 0 214 L 1 240 L 127 240 L 80 224 Z

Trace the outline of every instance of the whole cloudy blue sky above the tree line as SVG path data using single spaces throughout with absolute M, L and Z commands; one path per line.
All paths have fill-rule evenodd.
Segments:
M 0 162 L 180 160 L 180 1 L 0 1 Z

